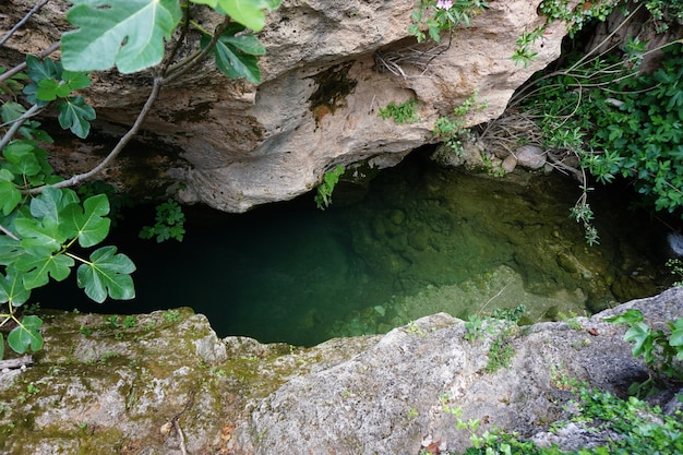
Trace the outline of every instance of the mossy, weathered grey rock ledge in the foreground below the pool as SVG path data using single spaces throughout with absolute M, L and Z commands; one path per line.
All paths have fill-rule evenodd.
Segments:
M 0 452 L 417 455 L 439 441 L 457 453 L 469 433 L 457 429 L 455 408 L 480 419 L 481 432 L 498 426 L 548 440 L 544 431 L 570 416 L 567 380 L 622 395 L 646 378 L 625 328 L 603 322 L 628 308 L 650 324 L 680 318 L 683 288 L 578 318 L 580 328 L 508 333 L 514 358 L 496 372 L 487 369 L 500 360 L 491 336 L 466 340 L 465 323 L 444 313 L 309 349 L 221 343 L 189 310 L 135 324 L 59 314 L 35 364 L 0 373 Z

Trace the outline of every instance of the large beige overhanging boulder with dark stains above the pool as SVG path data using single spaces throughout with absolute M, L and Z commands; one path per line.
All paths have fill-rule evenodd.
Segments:
M 267 49 L 262 84 L 229 81 L 206 64 L 166 87 L 145 123 L 143 144 L 133 146 L 109 177 L 147 192 L 182 182 L 180 197 L 187 202 L 242 212 L 312 189 L 337 164 L 392 166 L 434 142 L 434 121 L 475 91 L 488 108 L 472 113 L 468 124 L 498 117 L 516 87 L 559 57 L 565 29 L 553 23 L 544 45 L 535 48 L 537 60 L 527 68 L 511 60 L 520 33 L 544 23 L 539 3 L 491 1 L 471 26 L 455 31 L 452 46 L 434 49 L 433 41 L 417 46 L 407 33 L 414 0 L 285 0 L 261 33 Z M 31 5 L 11 0 L 0 28 L 8 29 Z M 67 27 L 60 15 L 65 8 L 64 1 L 44 7 L 0 49 L 0 62 L 47 47 Z M 423 65 L 436 51 L 443 52 Z M 378 64 L 397 52 L 405 76 Z M 149 76 L 95 79 L 87 96 L 98 112 L 97 127 L 120 135 L 147 96 Z M 410 98 L 418 101 L 420 122 L 399 125 L 378 117 L 380 107 Z M 56 164 L 71 173 L 92 166 L 105 151 L 71 144 L 62 152 L 63 163 Z

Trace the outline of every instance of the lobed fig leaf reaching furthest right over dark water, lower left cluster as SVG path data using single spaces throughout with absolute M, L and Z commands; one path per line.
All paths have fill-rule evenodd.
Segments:
M 91 254 L 91 262 L 81 264 L 76 274 L 79 287 L 98 303 L 107 296 L 117 300 L 135 297 L 131 273 L 135 264 L 125 254 L 117 254 L 116 247 L 103 247 Z

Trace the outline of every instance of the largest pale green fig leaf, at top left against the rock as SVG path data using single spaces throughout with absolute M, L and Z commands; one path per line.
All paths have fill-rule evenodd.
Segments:
M 62 35 L 62 64 L 70 71 L 122 73 L 153 67 L 164 39 L 181 17 L 178 0 L 71 0 L 67 19 L 77 27 Z

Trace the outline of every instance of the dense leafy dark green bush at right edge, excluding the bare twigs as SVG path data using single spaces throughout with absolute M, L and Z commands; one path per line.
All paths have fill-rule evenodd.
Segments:
M 592 135 L 583 163 L 598 181 L 632 178 L 657 211 L 683 205 L 683 40 L 660 68 L 614 84 L 619 94 L 591 94 L 585 107 Z

